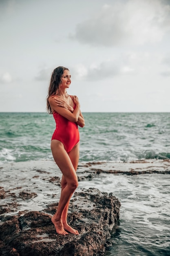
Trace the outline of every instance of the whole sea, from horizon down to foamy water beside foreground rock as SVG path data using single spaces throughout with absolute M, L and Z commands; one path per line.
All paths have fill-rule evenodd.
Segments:
M 169 161 L 169 112 L 83 115 L 85 126 L 79 128 L 80 164 L 107 162 L 111 169 L 114 163 Z M 8 173 L 11 164 L 19 177 L 21 166 L 22 175 L 24 168 L 29 175 L 33 163 L 39 168 L 53 162 L 50 143 L 54 130 L 53 116 L 47 113 L 0 113 L 0 186 L 16 186 L 11 167 Z M 105 256 L 170 256 L 170 174 L 105 173 L 79 182 L 78 189 L 90 187 L 113 193 L 121 202 L 120 218 L 110 238 L 112 246 L 106 249 Z M 43 201 L 43 196 L 39 200 Z M 31 210 L 33 205 L 26 207 Z

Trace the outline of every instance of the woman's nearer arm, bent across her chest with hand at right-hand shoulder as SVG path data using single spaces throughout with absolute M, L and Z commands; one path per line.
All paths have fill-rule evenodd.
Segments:
M 76 123 L 78 121 L 78 118 L 80 115 L 80 109 L 79 109 L 80 105 L 79 105 L 77 96 L 73 96 L 73 101 L 76 104 L 76 107 L 72 113 L 70 110 L 68 110 L 62 106 L 57 106 L 57 104 L 55 103 L 54 96 L 49 98 L 49 103 L 50 103 L 52 112 L 54 112 L 54 110 L 55 110 L 57 113 L 59 113 L 60 115 L 62 115 L 66 119 L 68 119 L 69 121 Z M 60 104 L 60 105 L 62 105 L 62 104 Z

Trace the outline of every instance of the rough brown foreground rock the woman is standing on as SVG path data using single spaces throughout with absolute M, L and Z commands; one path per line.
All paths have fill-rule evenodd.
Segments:
M 75 192 L 68 223 L 79 235 L 56 234 L 51 217 L 57 203 L 43 211 L 20 211 L 3 216 L 0 225 L 0 255 L 3 256 L 102 256 L 110 245 L 110 232 L 119 219 L 120 202 L 112 193 L 97 189 Z

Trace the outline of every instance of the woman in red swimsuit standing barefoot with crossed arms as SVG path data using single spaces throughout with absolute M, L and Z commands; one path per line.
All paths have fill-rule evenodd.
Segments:
M 51 150 L 57 166 L 62 171 L 61 196 L 55 215 L 51 218 L 57 234 L 79 232 L 67 223 L 70 198 L 78 186 L 77 166 L 79 161 L 79 130 L 84 127 L 77 96 L 67 94 L 71 75 L 66 67 L 53 70 L 47 96 L 47 111 L 53 114 L 56 129 L 51 139 Z M 67 232 L 68 231 L 68 232 Z

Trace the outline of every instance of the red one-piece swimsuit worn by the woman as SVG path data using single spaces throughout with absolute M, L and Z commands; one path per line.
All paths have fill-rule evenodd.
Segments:
M 75 109 L 74 104 L 74 109 Z M 66 152 L 69 153 L 72 148 L 79 142 L 79 129 L 76 123 L 69 121 L 56 111 L 53 112 L 56 123 L 56 129 L 51 140 L 57 139 L 64 144 Z

